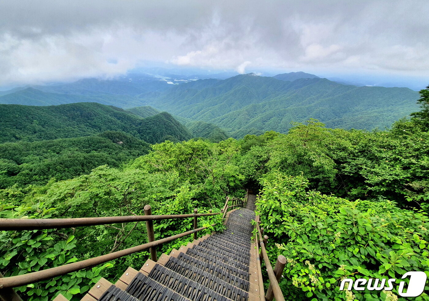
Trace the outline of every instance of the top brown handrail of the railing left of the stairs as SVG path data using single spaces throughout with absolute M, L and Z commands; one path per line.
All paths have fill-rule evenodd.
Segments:
M 0 231 L 96 226 L 116 223 L 142 222 L 148 220 L 172 220 L 176 218 L 180 219 L 188 217 L 206 217 L 217 214 L 221 214 L 221 212 L 200 214 L 131 215 L 125 217 L 79 217 L 53 219 L 0 218 Z

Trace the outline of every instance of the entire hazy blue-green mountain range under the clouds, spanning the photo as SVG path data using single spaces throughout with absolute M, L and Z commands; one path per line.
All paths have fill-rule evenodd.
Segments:
M 311 117 L 329 127 L 384 128 L 418 110 L 418 93 L 408 88 L 357 87 L 305 72 L 199 80 L 129 75 L 117 80 L 82 79 L 70 84 L 27 86 L 1 94 L 3 104 L 98 102 L 127 108 L 127 112 L 146 118 L 168 111 L 196 135 L 201 132 L 199 128 L 216 126 L 218 136 L 231 134 L 237 138 L 267 130 L 286 132 L 291 121 Z M 210 125 L 192 125 L 195 121 Z

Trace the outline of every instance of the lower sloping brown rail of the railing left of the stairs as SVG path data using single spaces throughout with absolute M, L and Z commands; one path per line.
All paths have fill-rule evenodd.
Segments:
M 216 223 L 212 224 L 211 226 L 215 226 Z M 1 289 L 4 288 L 11 288 L 11 287 L 18 287 L 23 285 L 28 285 L 31 283 L 39 282 L 41 280 L 51 279 L 57 276 L 69 274 L 71 272 L 79 271 L 85 268 L 91 268 L 96 265 L 100 265 L 105 262 L 109 262 L 113 259 L 117 259 L 119 257 L 127 256 L 136 252 L 140 252 L 146 249 L 149 249 L 150 247 L 155 247 L 160 244 L 165 244 L 166 242 L 173 241 L 176 238 L 181 238 L 186 235 L 190 235 L 192 233 L 201 231 L 207 229 L 207 227 L 201 227 L 198 229 L 190 230 L 187 232 L 183 232 L 177 235 L 173 235 L 167 238 L 162 238 L 157 241 L 152 241 L 146 244 L 141 244 L 136 247 L 131 247 L 125 250 L 116 251 L 110 254 L 105 254 L 102 256 L 97 256 L 91 259 L 85 259 L 79 262 L 73 262 L 66 265 L 61 265 L 55 268 L 48 268 L 46 270 L 37 271 L 33 273 L 18 275 L 18 276 L 11 276 L 11 277 L 5 277 L 0 278 L 0 294 Z

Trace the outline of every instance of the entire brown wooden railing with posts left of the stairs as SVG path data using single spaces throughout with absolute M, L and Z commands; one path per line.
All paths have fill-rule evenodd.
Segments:
M 198 217 L 213 216 L 218 214 L 227 213 L 228 209 L 239 205 L 237 199 L 230 199 L 227 197 L 224 209 L 218 213 L 202 213 L 198 214 L 198 210 L 194 209 L 193 214 L 172 214 L 172 215 L 152 215 L 151 206 L 146 205 L 144 208 L 145 215 L 126 216 L 126 217 L 84 217 L 84 218 L 58 218 L 58 219 L 0 219 L 0 231 L 20 231 L 20 230 L 36 230 L 36 229 L 56 229 L 56 228 L 70 228 L 70 227 L 83 227 L 83 226 L 95 226 L 95 225 L 106 225 L 115 223 L 130 223 L 130 222 L 146 222 L 146 229 L 148 234 L 148 242 L 139 246 L 131 247 L 121 251 L 97 256 L 91 259 L 85 259 L 79 262 L 73 262 L 66 265 L 61 265 L 55 268 L 48 268 L 42 271 L 36 271 L 28 274 L 22 274 L 11 277 L 3 277 L 0 273 L 0 300 L 11 300 L 11 301 L 22 301 L 21 298 L 12 289 L 18 286 L 24 286 L 31 283 L 36 283 L 42 280 L 51 279 L 57 276 L 69 274 L 71 272 L 79 271 L 85 268 L 91 268 L 96 265 L 100 265 L 105 262 L 109 262 L 113 259 L 118 259 L 123 256 L 127 256 L 143 250 L 150 250 L 151 259 L 157 261 L 156 247 L 165 244 L 169 241 L 173 241 L 177 238 L 184 237 L 186 235 L 193 234 L 196 239 L 196 233 L 207 229 L 208 227 L 197 228 Z M 234 205 L 228 206 L 228 202 L 234 202 Z M 154 220 L 172 220 L 172 219 L 184 219 L 193 217 L 193 230 L 183 232 L 177 235 L 173 235 L 167 238 L 159 239 L 155 241 L 153 221 Z M 215 226 L 216 223 L 211 226 Z

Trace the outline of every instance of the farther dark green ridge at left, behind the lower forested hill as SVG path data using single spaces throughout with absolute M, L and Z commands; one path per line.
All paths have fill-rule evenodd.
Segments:
M 99 103 L 0 105 L 0 117 L 3 133 L 0 142 L 72 138 L 104 131 L 122 131 L 140 139 L 152 137 L 151 143 L 163 141 L 166 135 L 178 141 L 192 138 L 190 132 L 166 112 L 146 120 L 121 108 Z M 153 137 L 157 137 L 156 141 Z

